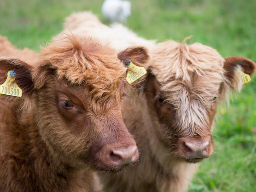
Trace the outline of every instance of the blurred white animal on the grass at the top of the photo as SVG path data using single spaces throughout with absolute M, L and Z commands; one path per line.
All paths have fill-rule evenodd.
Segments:
M 124 22 L 131 15 L 131 2 L 122 0 L 105 0 L 101 11 L 111 22 Z

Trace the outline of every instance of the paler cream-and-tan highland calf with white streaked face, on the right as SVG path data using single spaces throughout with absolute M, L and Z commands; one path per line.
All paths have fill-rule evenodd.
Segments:
M 230 90 L 241 90 L 236 66 L 252 75 L 255 63 L 243 57 L 224 59 L 200 43 L 169 40 L 155 44 L 122 25 L 108 27 L 90 12 L 73 14 L 66 25 L 79 38 L 90 35 L 100 42 L 111 42 L 117 52 L 128 46 L 145 46 L 151 56 L 140 64 L 147 75 L 125 87 L 128 96 L 122 100 L 124 122 L 135 135 L 140 164 L 120 175 L 99 173 L 104 190 L 186 191 L 196 163 L 213 153 L 211 132 L 217 98 L 225 100 Z M 134 62 L 125 52 L 119 59 Z

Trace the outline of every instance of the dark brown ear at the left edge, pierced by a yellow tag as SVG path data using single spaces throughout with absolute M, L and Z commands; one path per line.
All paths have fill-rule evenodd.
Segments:
M 0 57 L 0 85 L 5 82 L 7 72 L 10 70 L 16 73 L 15 82 L 22 90 L 22 95 L 32 93 L 34 84 L 31 77 L 31 67 L 19 59 Z

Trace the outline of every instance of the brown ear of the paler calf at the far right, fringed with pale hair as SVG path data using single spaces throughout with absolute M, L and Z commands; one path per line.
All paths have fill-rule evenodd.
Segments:
M 240 66 L 244 73 L 252 76 L 256 64 L 252 60 L 244 57 L 233 56 L 225 58 L 224 69 L 229 85 L 239 92 L 242 89 L 243 84 L 239 71 L 235 69 L 236 66 Z

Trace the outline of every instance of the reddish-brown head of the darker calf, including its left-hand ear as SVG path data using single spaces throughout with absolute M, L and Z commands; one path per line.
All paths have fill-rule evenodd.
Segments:
M 32 66 L 1 58 L 0 83 L 8 70 L 16 72 L 22 102 L 33 106 L 28 113 L 34 111 L 36 137 L 58 161 L 102 170 L 137 161 L 138 149 L 121 113 L 125 68 L 114 50 L 67 37 L 43 48 Z

